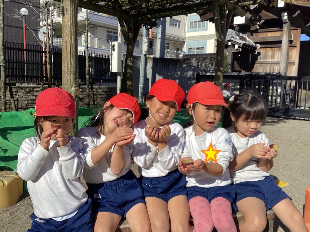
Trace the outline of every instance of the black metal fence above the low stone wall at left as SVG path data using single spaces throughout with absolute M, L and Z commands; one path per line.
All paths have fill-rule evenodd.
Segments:
M 11 82 L 40 82 L 47 79 L 46 51 L 40 45 L 24 45 L 5 42 L 6 78 Z M 61 48 L 54 47 L 50 57 L 52 82 L 61 84 L 62 53 Z M 89 53 L 90 79 L 94 83 L 116 83 L 117 74 L 110 73 L 110 55 Z M 78 53 L 78 75 L 86 81 L 86 56 Z

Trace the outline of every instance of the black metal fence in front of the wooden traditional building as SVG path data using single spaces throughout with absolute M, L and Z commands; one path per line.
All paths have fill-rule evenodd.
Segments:
M 196 81 L 214 81 L 212 75 L 196 75 Z M 268 74 L 224 75 L 223 83 L 238 90 L 254 89 L 268 103 L 268 116 L 310 119 L 310 76 Z

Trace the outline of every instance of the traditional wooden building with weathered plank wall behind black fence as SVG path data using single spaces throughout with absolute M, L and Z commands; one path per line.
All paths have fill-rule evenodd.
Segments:
M 212 16 L 201 14 L 200 18 L 212 21 Z M 229 71 L 310 75 L 309 68 L 299 66 L 301 54 L 310 58 L 305 53 L 310 41 L 304 41 L 300 49 L 300 35 L 310 36 L 310 0 L 292 0 L 291 4 L 265 1 L 247 6 L 245 16 L 233 17 L 231 28 L 237 31 L 233 34 L 238 39 L 230 34 L 226 37 Z M 255 46 L 247 46 L 242 42 L 245 38 Z

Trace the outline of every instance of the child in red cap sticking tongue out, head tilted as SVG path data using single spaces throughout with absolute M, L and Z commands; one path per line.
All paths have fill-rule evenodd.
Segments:
M 87 194 L 93 201 L 94 231 L 115 231 L 122 217 L 135 231 L 151 231 L 143 190 L 131 170 L 131 126 L 141 114 L 135 97 L 119 93 L 78 132 L 84 142 Z

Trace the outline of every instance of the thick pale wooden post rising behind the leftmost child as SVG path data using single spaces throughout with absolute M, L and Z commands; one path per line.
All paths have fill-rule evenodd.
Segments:
M 78 126 L 78 0 L 62 0 L 62 88 L 75 101 L 75 125 Z M 77 134 L 77 127 L 71 135 Z

